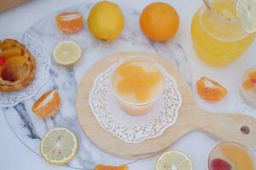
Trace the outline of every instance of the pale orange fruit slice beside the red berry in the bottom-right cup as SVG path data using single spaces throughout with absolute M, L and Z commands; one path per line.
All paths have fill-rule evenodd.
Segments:
M 236 165 L 236 170 L 253 170 L 253 159 L 244 150 L 236 145 L 223 145 L 221 150 L 231 162 Z

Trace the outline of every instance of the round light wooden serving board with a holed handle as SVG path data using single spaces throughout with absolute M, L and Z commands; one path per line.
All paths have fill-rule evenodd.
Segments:
M 91 113 L 88 101 L 96 76 L 119 59 L 132 55 L 143 55 L 157 60 L 177 81 L 178 89 L 183 96 L 183 105 L 179 110 L 177 122 L 167 128 L 160 137 L 148 139 L 139 144 L 127 144 L 104 130 Z M 177 139 L 193 130 L 204 131 L 216 139 L 240 142 L 249 148 L 256 147 L 256 119 L 242 114 L 213 114 L 203 111 L 196 105 L 187 82 L 177 68 L 170 60 L 157 54 L 129 52 L 112 54 L 100 59 L 90 67 L 80 82 L 76 108 L 80 125 L 90 140 L 102 150 L 123 158 L 153 156 L 166 150 Z

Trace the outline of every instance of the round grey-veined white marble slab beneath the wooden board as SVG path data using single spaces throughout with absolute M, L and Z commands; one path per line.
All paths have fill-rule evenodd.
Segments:
M 79 154 L 75 160 L 67 164 L 67 167 L 91 169 L 98 163 L 121 164 L 128 163 L 128 160 L 121 160 L 109 156 L 107 153 L 96 148 L 86 138 L 76 117 L 75 96 L 78 83 L 85 71 L 94 64 L 97 59 L 119 51 L 145 51 L 166 56 L 177 65 L 180 71 L 191 85 L 189 62 L 183 51 L 182 45 L 174 39 L 173 41 L 159 43 L 150 42 L 143 36 L 137 24 L 139 13 L 132 9 L 122 7 L 125 14 L 125 29 L 122 35 L 114 42 L 99 42 L 91 37 L 87 27 L 77 34 L 67 35 L 58 30 L 55 24 L 55 15 L 64 11 L 79 11 L 87 16 L 91 3 L 81 4 L 76 7 L 63 9 L 55 14 L 49 14 L 43 20 L 39 20 L 25 33 L 44 44 L 46 53 L 51 56 L 50 78 L 47 84 L 33 98 L 26 100 L 13 108 L 3 109 L 3 114 L 14 130 L 15 135 L 26 147 L 35 154 L 39 153 L 39 143 L 44 135 L 52 127 L 68 127 L 79 136 Z M 84 21 L 85 22 L 85 21 Z M 52 58 L 55 45 L 62 40 L 73 40 L 78 42 L 83 50 L 82 59 L 73 67 L 57 65 Z M 32 105 L 35 99 L 50 89 L 57 89 L 61 94 L 61 112 L 49 119 L 41 119 L 35 116 Z M 121 151 L 121 150 L 120 150 Z

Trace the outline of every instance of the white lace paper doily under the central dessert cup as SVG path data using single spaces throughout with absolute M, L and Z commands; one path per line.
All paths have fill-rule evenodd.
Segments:
M 97 122 L 109 133 L 126 143 L 140 143 L 146 139 L 160 136 L 167 127 L 177 120 L 182 105 L 182 96 L 177 83 L 164 69 L 165 89 L 152 111 L 144 116 L 129 116 L 119 107 L 119 103 L 110 88 L 110 77 L 115 65 L 96 77 L 90 91 L 90 110 Z

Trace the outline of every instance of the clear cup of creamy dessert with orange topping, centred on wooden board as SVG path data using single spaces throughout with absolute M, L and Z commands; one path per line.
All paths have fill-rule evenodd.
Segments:
M 125 113 L 142 116 L 150 111 L 164 89 L 160 65 L 147 57 L 121 59 L 111 77 L 113 94 Z

